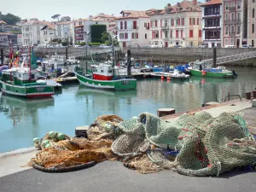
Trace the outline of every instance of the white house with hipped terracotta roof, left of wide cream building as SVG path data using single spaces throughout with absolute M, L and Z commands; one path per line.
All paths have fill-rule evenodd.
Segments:
M 145 47 L 149 45 L 149 17 L 145 11 L 123 10 L 118 20 L 120 47 Z

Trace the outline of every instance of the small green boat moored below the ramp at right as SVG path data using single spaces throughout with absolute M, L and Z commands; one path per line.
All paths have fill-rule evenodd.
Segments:
M 226 70 L 225 67 L 212 67 L 211 64 L 205 64 L 203 62 L 195 62 L 193 67 L 189 67 L 191 75 L 207 78 L 221 78 L 221 79 L 234 79 L 237 77 L 237 73 Z

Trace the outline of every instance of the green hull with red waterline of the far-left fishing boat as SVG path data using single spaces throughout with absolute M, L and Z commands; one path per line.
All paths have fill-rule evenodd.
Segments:
M 21 96 L 26 98 L 42 98 L 54 95 L 53 86 L 49 85 L 32 85 L 20 86 L 15 84 L 8 84 L 0 81 L 2 84 L 1 90 L 5 94 L 12 96 Z

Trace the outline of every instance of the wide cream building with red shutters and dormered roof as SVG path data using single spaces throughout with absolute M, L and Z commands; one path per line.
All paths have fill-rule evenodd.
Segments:
M 150 16 L 150 44 L 159 47 L 198 47 L 201 45 L 200 3 L 186 1 L 165 9 L 152 10 Z

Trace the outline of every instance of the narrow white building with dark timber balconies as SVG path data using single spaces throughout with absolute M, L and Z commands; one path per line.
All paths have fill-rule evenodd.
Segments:
M 202 8 L 202 40 L 208 48 L 222 46 L 222 3 L 210 0 L 200 5 Z

